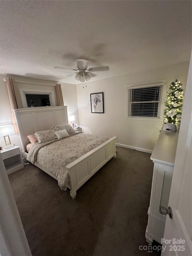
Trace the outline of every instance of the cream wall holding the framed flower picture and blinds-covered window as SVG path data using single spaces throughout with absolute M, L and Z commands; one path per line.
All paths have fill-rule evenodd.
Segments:
M 154 68 L 132 74 L 77 84 L 80 126 L 85 133 L 118 136 L 117 143 L 153 150 L 162 127 L 159 121 L 125 119 L 126 85 L 167 79 L 167 87 L 176 78 L 186 86 L 189 62 Z M 90 93 L 104 92 L 104 114 L 91 113 Z

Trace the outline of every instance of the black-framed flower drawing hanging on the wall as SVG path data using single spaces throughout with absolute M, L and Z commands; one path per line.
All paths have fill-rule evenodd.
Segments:
M 104 93 L 97 92 L 90 94 L 91 113 L 104 113 Z

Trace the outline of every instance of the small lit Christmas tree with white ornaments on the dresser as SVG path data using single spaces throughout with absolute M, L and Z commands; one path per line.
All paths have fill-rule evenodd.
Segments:
M 164 107 L 164 124 L 180 125 L 183 108 L 183 89 L 181 87 L 182 83 L 176 79 L 175 82 L 171 83 L 167 91 L 168 95 L 165 98 Z

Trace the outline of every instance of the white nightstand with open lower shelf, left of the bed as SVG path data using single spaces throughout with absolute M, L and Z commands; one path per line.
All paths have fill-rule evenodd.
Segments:
M 24 167 L 19 146 L 3 149 L 3 151 L 1 151 L 1 156 L 3 158 L 7 174 L 13 173 Z

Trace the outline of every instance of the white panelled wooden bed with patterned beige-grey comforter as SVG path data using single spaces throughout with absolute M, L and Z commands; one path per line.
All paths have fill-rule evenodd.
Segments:
M 68 124 L 67 106 L 14 109 L 14 113 L 19 128 L 19 135 L 22 141 L 24 158 L 29 157 L 27 153 L 27 144 L 29 143 L 27 135 L 32 134 L 34 131 L 49 130 L 51 127 L 56 125 Z M 91 176 L 93 176 L 112 157 L 116 158 L 117 137 L 114 136 L 113 138 L 108 139 L 107 137 L 84 133 L 75 133 L 72 135 L 73 136 L 67 137 L 63 140 L 55 140 L 51 143 L 48 143 L 47 145 L 43 145 L 43 147 L 39 149 L 37 158 L 35 158 L 33 164 L 58 180 L 61 189 L 65 190 L 65 187 L 68 187 L 70 189 L 70 196 L 74 199 L 76 197 L 76 191 Z M 92 139 L 90 136 L 93 136 Z M 89 143 L 90 140 L 94 141 L 94 143 Z M 75 141 L 77 143 L 75 143 Z M 59 161 L 59 159 L 62 158 L 57 158 L 57 155 L 62 153 L 62 145 L 65 159 L 64 161 Z M 69 150 L 66 149 L 67 145 L 69 145 Z M 73 147 L 71 145 L 74 145 L 74 151 L 77 152 L 75 157 Z M 36 146 L 33 145 L 30 151 L 35 150 L 35 147 Z M 58 148 L 60 151 L 57 153 L 54 150 Z M 72 152 L 70 157 L 67 155 L 67 151 Z M 52 173 L 48 170 L 49 166 L 46 165 L 46 161 L 43 160 L 42 157 L 45 154 L 49 154 L 49 152 L 54 153 L 53 159 L 57 159 L 57 161 L 55 160 L 55 163 L 52 163 L 52 166 L 54 166 L 56 163 L 59 163 L 61 165 L 61 171 L 57 169 Z M 52 153 L 50 153 L 50 155 L 52 155 Z M 49 164 L 51 165 L 51 162 L 49 162 Z M 67 173 L 67 176 L 65 177 L 67 182 L 65 182 L 65 184 L 62 183 L 62 179 L 60 179 L 61 176 L 64 175 L 62 173 L 63 170 L 64 174 Z

